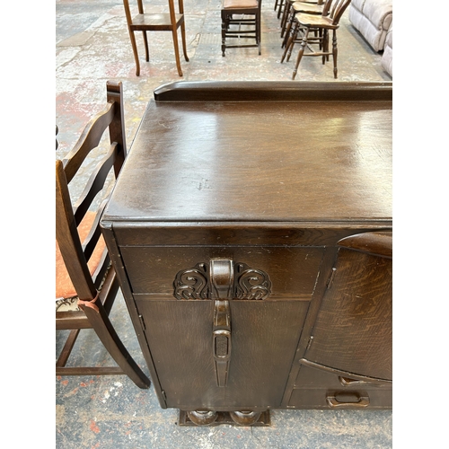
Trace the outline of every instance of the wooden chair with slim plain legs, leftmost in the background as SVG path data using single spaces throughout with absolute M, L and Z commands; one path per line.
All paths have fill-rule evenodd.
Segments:
M 176 67 L 178 68 L 178 74 L 182 76 L 182 69 L 180 67 L 180 49 L 178 45 L 178 28 L 180 28 L 184 58 L 186 61 L 189 61 L 186 46 L 183 0 L 178 0 L 179 13 L 175 12 L 173 0 L 168 0 L 168 4 L 169 13 L 144 13 L 143 0 L 137 0 L 138 14 L 133 17 L 129 9 L 129 1 L 123 0 L 123 5 L 125 6 L 125 14 L 127 16 L 128 22 L 129 38 L 131 39 L 131 46 L 133 48 L 134 58 L 136 59 L 136 76 L 140 75 L 140 65 L 137 53 L 136 36 L 134 34 L 135 31 L 142 31 L 142 35 L 144 37 L 146 62 L 150 60 L 146 31 L 172 31 Z

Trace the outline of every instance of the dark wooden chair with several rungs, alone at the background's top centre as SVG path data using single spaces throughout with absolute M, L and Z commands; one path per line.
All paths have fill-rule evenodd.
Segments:
M 226 48 L 260 49 L 260 6 L 262 0 L 223 0 L 222 56 Z M 253 39 L 254 44 L 229 45 L 226 39 Z

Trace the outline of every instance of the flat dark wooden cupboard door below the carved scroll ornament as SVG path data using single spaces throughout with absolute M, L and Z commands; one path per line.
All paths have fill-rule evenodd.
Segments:
M 216 382 L 215 302 L 142 300 L 145 337 L 167 407 L 267 409 L 280 405 L 304 324 L 307 301 L 229 301 L 231 357 Z

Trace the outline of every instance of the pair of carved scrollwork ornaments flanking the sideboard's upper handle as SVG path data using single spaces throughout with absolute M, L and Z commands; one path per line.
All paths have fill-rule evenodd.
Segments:
M 252 269 L 242 262 L 233 264 L 233 298 L 263 300 L 271 294 L 269 275 L 261 269 Z M 183 269 L 173 282 L 175 298 L 180 300 L 211 299 L 209 265 L 200 262 L 195 267 Z

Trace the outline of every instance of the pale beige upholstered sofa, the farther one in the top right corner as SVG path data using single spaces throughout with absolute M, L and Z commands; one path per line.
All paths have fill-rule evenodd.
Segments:
M 374 51 L 383 50 L 392 26 L 392 0 L 352 0 L 349 22 Z

